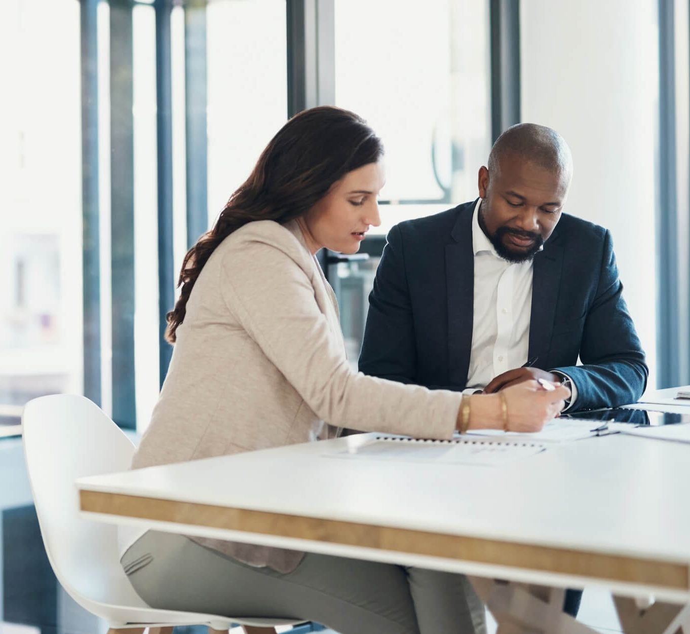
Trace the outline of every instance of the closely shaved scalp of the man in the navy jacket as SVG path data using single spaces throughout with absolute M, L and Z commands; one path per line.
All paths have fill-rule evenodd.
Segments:
M 573 157 L 568 143 L 555 130 L 536 123 L 517 123 L 496 139 L 489 155 L 489 173 L 496 174 L 503 159 L 509 156 L 561 175 L 568 181 L 573 174 Z

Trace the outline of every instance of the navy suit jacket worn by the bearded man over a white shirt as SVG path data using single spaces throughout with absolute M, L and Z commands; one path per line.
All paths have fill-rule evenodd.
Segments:
M 476 201 L 402 222 L 388 233 L 359 369 L 462 390 L 472 346 Z M 529 356 L 578 388 L 573 409 L 635 402 L 647 365 L 615 265 L 611 233 L 563 214 L 534 257 Z M 576 366 L 578 356 L 582 365 Z

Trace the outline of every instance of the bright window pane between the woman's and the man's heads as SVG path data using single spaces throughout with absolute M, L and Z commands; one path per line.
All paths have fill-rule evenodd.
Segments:
M 335 1 L 335 99 L 384 141 L 382 201 L 426 215 L 477 195 L 491 147 L 489 6 L 432 0 L 424 19 L 396 7 Z

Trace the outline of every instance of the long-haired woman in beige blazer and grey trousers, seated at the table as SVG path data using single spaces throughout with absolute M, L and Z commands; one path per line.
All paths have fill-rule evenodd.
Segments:
M 184 259 L 168 315 L 175 350 L 133 468 L 330 438 L 343 426 L 428 438 L 531 431 L 560 412 L 562 387 L 462 397 L 348 366 L 315 253 L 356 252 L 380 224 L 382 154 L 362 119 L 328 107 L 293 117 L 268 143 Z M 341 634 L 484 627 L 464 575 L 155 531 L 121 539 L 132 585 L 157 608 L 295 617 Z

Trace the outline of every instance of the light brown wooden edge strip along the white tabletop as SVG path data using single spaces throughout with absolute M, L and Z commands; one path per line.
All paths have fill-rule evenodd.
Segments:
M 84 489 L 79 491 L 79 502 L 81 511 L 88 513 L 294 537 L 479 564 L 661 586 L 680 591 L 690 589 L 689 564 L 657 559 Z

